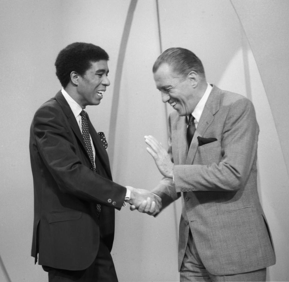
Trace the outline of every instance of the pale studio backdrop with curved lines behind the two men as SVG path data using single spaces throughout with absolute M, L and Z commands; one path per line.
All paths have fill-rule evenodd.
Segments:
M 61 88 L 54 69 L 58 52 L 76 41 L 110 55 L 111 86 L 101 104 L 87 110 L 107 136 L 120 184 L 151 190 L 161 178 L 143 139 L 151 134 L 167 144 L 171 109 L 151 73 L 160 49 L 190 49 L 203 61 L 208 82 L 253 101 L 259 192 L 277 255 L 267 280 L 288 280 L 288 19 L 286 0 L 2 0 L 0 281 L 48 280 L 30 257 L 29 127 L 35 110 Z M 179 216 L 179 201 L 157 218 L 128 207 L 116 212 L 112 256 L 120 281 L 179 280 Z

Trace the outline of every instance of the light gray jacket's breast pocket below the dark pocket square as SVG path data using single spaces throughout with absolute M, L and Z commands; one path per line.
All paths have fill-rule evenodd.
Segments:
M 197 148 L 195 160 L 199 164 L 219 163 L 221 159 L 221 144 L 219 141 L 204 144 Z

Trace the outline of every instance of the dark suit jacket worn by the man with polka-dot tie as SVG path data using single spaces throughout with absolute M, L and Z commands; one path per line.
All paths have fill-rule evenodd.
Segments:
M 114 212 L 126 188 L 112 181 L 107 152 L 89 121 L 96 173 L 76 119 L 59 91 L 35 113 L 30 129 L 34 182 L 32 256 L 39 264 L 81 270 L 92 264 L 100 236 L 111 250 Z M 102 205 L 96 215 L 96 204 Z

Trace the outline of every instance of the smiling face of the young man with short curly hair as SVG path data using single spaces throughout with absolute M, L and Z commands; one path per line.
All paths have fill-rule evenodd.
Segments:
M 106 60 L 91 62 L 91 67 L 83 76 L 77 76 L 76 102 L 85 108 L 87 105 L 98 105 L 106 87 L 110 85 L 107 78 L 108 66 Z

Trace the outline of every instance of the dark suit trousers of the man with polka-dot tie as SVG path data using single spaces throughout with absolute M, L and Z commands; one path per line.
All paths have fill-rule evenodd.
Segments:
M 84 270 L 65 270 L 42 266 L 48 272 L 49 282 L 118 282 L 110 251 L 102 240 L 98 254 L 89 268 Z

